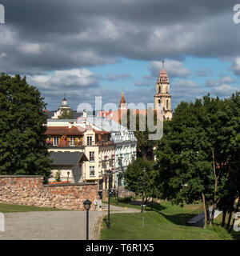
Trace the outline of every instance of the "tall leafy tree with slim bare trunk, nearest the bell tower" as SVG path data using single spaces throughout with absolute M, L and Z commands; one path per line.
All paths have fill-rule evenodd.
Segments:
M 182 102 L 172 121 L 165 122 L 164 135 L 156 150 L 156 168 L 162 198 L 177 204 L 201 200 L 206 220 L 213 175 L 206 132 L 198 121 L 204 114 L 201 105 L 199 100 L 195 104 Z

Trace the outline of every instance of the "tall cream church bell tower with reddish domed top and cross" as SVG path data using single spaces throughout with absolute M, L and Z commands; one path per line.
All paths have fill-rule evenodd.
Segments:
M 154 109 L 157 110 L 160 105 L 163 106 L 163 118 L 173 118 L 173 110 L 171 110 L 170 82 L 166 70 L 164 70 L 164 61 L 162 61 L 162 70 L 158 75 L 156 82 L 156 94 L 154 96 Z

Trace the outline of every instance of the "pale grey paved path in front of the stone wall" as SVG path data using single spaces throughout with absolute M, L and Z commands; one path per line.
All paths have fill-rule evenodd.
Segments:
M 110 206 L 111 214 L 134 212 L 139 210 Z M 106 204 L 102 204 L 102 211 L 90 211 L 90 239 L 94 238 L 93 228 L 100 229 L 101 222 L 98 218 L 106 214 Z M 86 211 L 23 212 L 4 216 L 5 232 L 0 232 L 0 240 L 86 239 Z

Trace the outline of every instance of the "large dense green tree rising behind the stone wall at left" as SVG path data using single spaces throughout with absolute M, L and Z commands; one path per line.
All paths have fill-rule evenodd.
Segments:
M 0 174 L 50 177 L 45 106 L 26 78 L 0 75 Z

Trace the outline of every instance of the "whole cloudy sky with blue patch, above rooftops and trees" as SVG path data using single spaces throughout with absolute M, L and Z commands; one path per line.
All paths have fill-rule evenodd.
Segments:
M 48 110 L 153 103 L 162 70 L 172 108 L 240 90 L 240 0 L 0 0 L 0 71 L 26 76 Z M 240 8 L 239 8 L 240 10 Z M 239 14 L 240 19 L 240 14 Z

